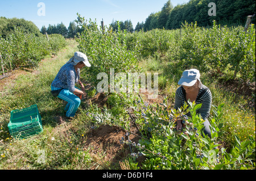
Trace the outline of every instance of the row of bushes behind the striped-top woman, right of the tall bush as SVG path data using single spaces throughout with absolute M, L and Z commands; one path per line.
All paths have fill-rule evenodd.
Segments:
M 142 57 L 166 56 L 180 65 L 195 67 L 202 72 L 225 74 L 233 72 L 245 81 L 255 81 L 255 26 L 247 32 L 242 26 L 212 28 L 185 23 L 181 30 L 151 30 L 127 36 L 130 50 L 139 47 Z

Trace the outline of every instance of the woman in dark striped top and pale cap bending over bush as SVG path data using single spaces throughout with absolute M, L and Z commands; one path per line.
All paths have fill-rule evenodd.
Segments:
M 181 86 L 176 90 L 174 108 L 176 110 L 181 108 L 185 102 L 188 103 L 188 100 L 190 100 L 190 102 L 195 101 L 196 104 L 202 104 L 197 113 L 200 113 L 201 117 L 204 119 L 205 135 L 211 137 L 208 117 L 210 115 L 210 107 L 212 106 L 212 94 L 209 88 L 201 83 L 199 70 L 185 70 L 178 84 Z M 179 130 L 181 128 L 181 120 L 177 120 L 176 129 Z

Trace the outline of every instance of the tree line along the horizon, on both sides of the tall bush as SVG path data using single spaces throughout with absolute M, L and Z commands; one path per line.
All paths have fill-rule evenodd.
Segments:
M 216 16 L 209 16 L 208 11 L 210 7 L 208 6 L 210 2 L 216 4 Z M 152 12 L 145 20 L 145 22 L 138 22 L 133 28 L 133 23 L 131 20 L 125 20 L 125 22 L 118 22 L 113 20 L 110 27 L 114 31 L 126 30 L 128 32 L 134 31 L 150 31 L 156 28 L 172 30 L 180 28 L 182 23 L 197 22 L 199 27 L 212 26 L 213 20 L 218 24 L 228 25 L 228 26 L 238 26 L 245 25 L 246 16 L 255 14 L 255 2 L 253 0 L 190 0 L 188 3 L 183 3 L 182 5 L 173 6 L 171 0 L 168 0 L 162 10 L 159 12 Z M 252 23 L 255 24 L 255 17 L 252 19 Z M 118 25 L 119 24 L 119 25 Z M 24 19 L 7 19 L 5 17 L 0 17 L 0 35 L 6 37 L 7 33 L 14 30 L 14 27 L 18 26 L 26 31 L 34 33 L 39 36 L 40 33 L 48 35 L 60 34 L 67 38 L 73 38 L 77 32 L 82 32 L 82 29 L 77 26 L 75 22 L 70 22 L 67 28 L 62 22 L 57 24 L 57 26 L 49 24 L 48 28 L 43 26 L 41 30 L 35 26 L 34 23 L 24 20 Z

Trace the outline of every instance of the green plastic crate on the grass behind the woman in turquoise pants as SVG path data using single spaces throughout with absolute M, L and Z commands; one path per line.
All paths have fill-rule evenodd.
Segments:
M 42 118 L 38 106 L 35 104 L 22 110 L 11 111 L 8 128 L 11 136 L 19 138 L 26 138 L 42 132 Z

